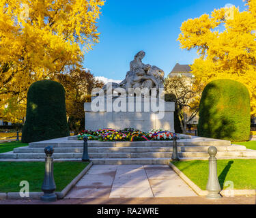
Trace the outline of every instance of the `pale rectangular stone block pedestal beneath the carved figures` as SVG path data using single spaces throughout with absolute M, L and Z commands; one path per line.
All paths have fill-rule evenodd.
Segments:
M 151 129 L 174 131 L 174 110 L 173 102 L 165 102 L 165 109 L 160 112 L 152 112 L 152 110 L 150 112 L 107 112 L 106 107 L 103 112 L 93 112 L 91 103 L 85 103 L 85 129 L 95 131 L 102 128 L 131 127 L 141 131 Z

